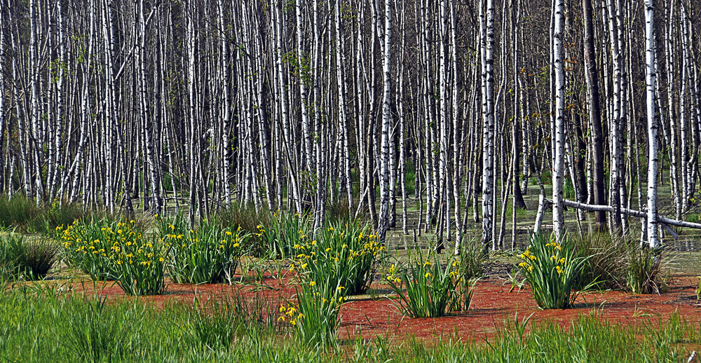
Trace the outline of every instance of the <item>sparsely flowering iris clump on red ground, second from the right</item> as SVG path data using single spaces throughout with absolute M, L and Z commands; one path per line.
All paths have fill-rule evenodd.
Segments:
M 407 268 L 390 267 L 386 280 L 397 293 L 397 305 L 409 317 L 440 317 L 468 310 L 475 280 L 468 278 L 459 261 L 437 254 L 409 256 Z M 406 287 L 407 294 L 403 290 Z

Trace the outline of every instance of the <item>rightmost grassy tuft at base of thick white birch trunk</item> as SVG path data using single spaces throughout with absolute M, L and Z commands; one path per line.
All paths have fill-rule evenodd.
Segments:
M 632 248 L 628 254 L 627 284 L 635 294 L 659 294 L 667 289 L 663 270 L 665 249 Z

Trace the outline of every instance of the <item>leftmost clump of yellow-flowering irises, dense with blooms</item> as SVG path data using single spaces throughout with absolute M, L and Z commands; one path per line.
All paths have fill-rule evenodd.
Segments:
M 93 281 L 116 280 L 120 271 L 114 261 L 121 249 L 121 241 L 139 233 L 135 231 L 134 221 L 121 223 L 109 219 L 89 223 L 74 221 L 55 229 L 68 263 L 88 274 Z

